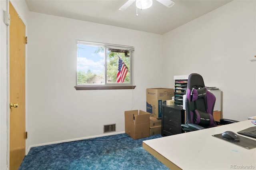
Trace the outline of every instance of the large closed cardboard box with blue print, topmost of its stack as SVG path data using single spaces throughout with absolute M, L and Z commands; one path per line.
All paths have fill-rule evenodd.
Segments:
M 174 96 L 174 89 L 152 88 L 146 91 L 146 111 L 152 113 L 153 117 L 162 117 L 162 105 L 166 100 L 171 100 Z

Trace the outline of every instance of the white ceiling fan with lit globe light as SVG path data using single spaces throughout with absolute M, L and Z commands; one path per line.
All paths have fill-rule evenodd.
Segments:
M 124 5 L 122 5 L 119 8 L 119 10 L 121 10 L 121 11 L 125 10 L 135 1 L 136 1 L 136 7 L 139 9 L 150 8 L 153 3 L 152 0 L 128 0 Z M 164 6 L 167 6 L 168 8 L 170 8 L 171 6 L 173 6 L 175 4 L 172 0 L 156 0 L 156 1 L 160 2 Z

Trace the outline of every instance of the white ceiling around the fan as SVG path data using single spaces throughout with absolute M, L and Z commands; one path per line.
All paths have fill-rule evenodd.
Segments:
M 164 34 L 231 0 L 173 0 L 167 8 L 156 0 L 152 7 L 139 10 L 135 2 L 118 10 L 127 0 L 26 0 L 32 12 L 106 24 L 155 34 Z

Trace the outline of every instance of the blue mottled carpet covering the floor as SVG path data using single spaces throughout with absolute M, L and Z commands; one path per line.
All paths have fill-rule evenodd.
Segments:
M 142 148 L 142 141 L 116 134 L 31 148 L 19 170 L 168 170 Z

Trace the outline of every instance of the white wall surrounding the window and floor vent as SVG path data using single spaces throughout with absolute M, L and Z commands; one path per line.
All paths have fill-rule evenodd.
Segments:
M 28 32 L 31 146 L 103 135 L 103 125 L 110 123 L 124 132 L 124 111 L 145 111 L 146 88 L 167 87 L 161 35 L 35 12 L 30 12 Z M 136 88 L 76 91 L 76 39 L 134 46 Z

